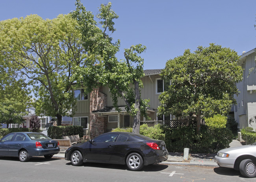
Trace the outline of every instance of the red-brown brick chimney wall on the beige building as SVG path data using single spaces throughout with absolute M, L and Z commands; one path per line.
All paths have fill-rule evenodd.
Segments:
M 94 138 L 107 132 L 108 118 L 93 114 L 93 110 L 103 109 L 107 106 L 107 95 L 102 93 L 102 88 L 96 88 L 90 95 L 90 136 Z

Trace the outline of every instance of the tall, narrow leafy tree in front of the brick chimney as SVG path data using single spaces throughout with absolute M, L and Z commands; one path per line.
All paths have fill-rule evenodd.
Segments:
M 126 103 L 126 110 L 134 116 L 133 132 L 139 133 L 141 114 L 147 117 L 147 100 L 141 99 L 140 88 L 143 86 L 141 77 L 143 73 L 143 59 L 138 55 L 146 50 L 141 44 L 131 46 L 124 50 L 125 60 L 118 61 L 115 54 L 119 51 L 120 40 L 112 42 L 107 33 L 113 33 L 113 19 L 118 15 L 111 9 L 111 3 L 101 5 L 97 18 L 101 21 L 102 29 L 96 27 L 96 21 L 91 12 L 86 11 L 80 0 L 76 2 L 76 11 L 72 16 L 78 21 L 82 32 L 83 46 L 91 47 L 91 51 L 101 58 L 96 65 L 86 68 L 78 67 L 75 78 L 90 91 L 103 85 L 108 86 L 113 105 L 119 110 L 117 102 L 122 97 Z

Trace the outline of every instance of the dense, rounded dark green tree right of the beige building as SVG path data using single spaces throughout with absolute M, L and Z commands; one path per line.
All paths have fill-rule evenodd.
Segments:
M 167 61 L 161 76 L 171 85 L 159 97 L 159 114 L 195 114 L 198 132 L 204 118 L 227 115 L 239 93 L 235 83 L 243 79 L 238 61 L 236 51 L 215 44 Z

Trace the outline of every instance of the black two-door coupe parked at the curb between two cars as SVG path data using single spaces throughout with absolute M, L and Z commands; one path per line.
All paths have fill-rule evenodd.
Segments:
M 85 143 L 72 145 L 65 159 L 72 165 L 83 162 L 126 164 L 132 171 L 167 160 L 165 142 L 130 132 L 108 132 Z

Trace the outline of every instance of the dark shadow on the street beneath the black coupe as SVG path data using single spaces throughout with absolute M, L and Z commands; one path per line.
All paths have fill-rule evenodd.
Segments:
M 72 165 L 71 162 L 66 163 L 66 165 Z M 105 169 L 119 169 L 119 170 L 127 170 L 128 168 L 126 165 L 122 164 L 104 164 L 104 163 L 93 163 L 93 162 L 86 162 L 83 163 L 81 166 L 74 166 L 74 167 L 99 167 L 99 168 L 105 168 Z M 152 164 L 144 166 L 140 171 L 146 171 L 146 172 L 154 172 L 154 171 L 162 171 L 166 169 L 168 165 L 164 164 Z M 139 171 L 133 171 L 133 172 L 139 172 Z

